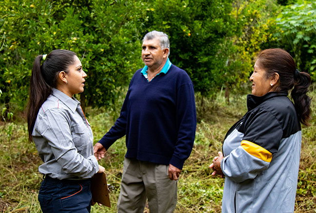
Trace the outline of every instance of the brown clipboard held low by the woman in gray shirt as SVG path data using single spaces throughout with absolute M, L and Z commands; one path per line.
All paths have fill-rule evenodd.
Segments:
M 97 202 L 111 208 L 108 186 L 105 173 L 97 173 L 91 180 L 91 193 L 93 202 Z

